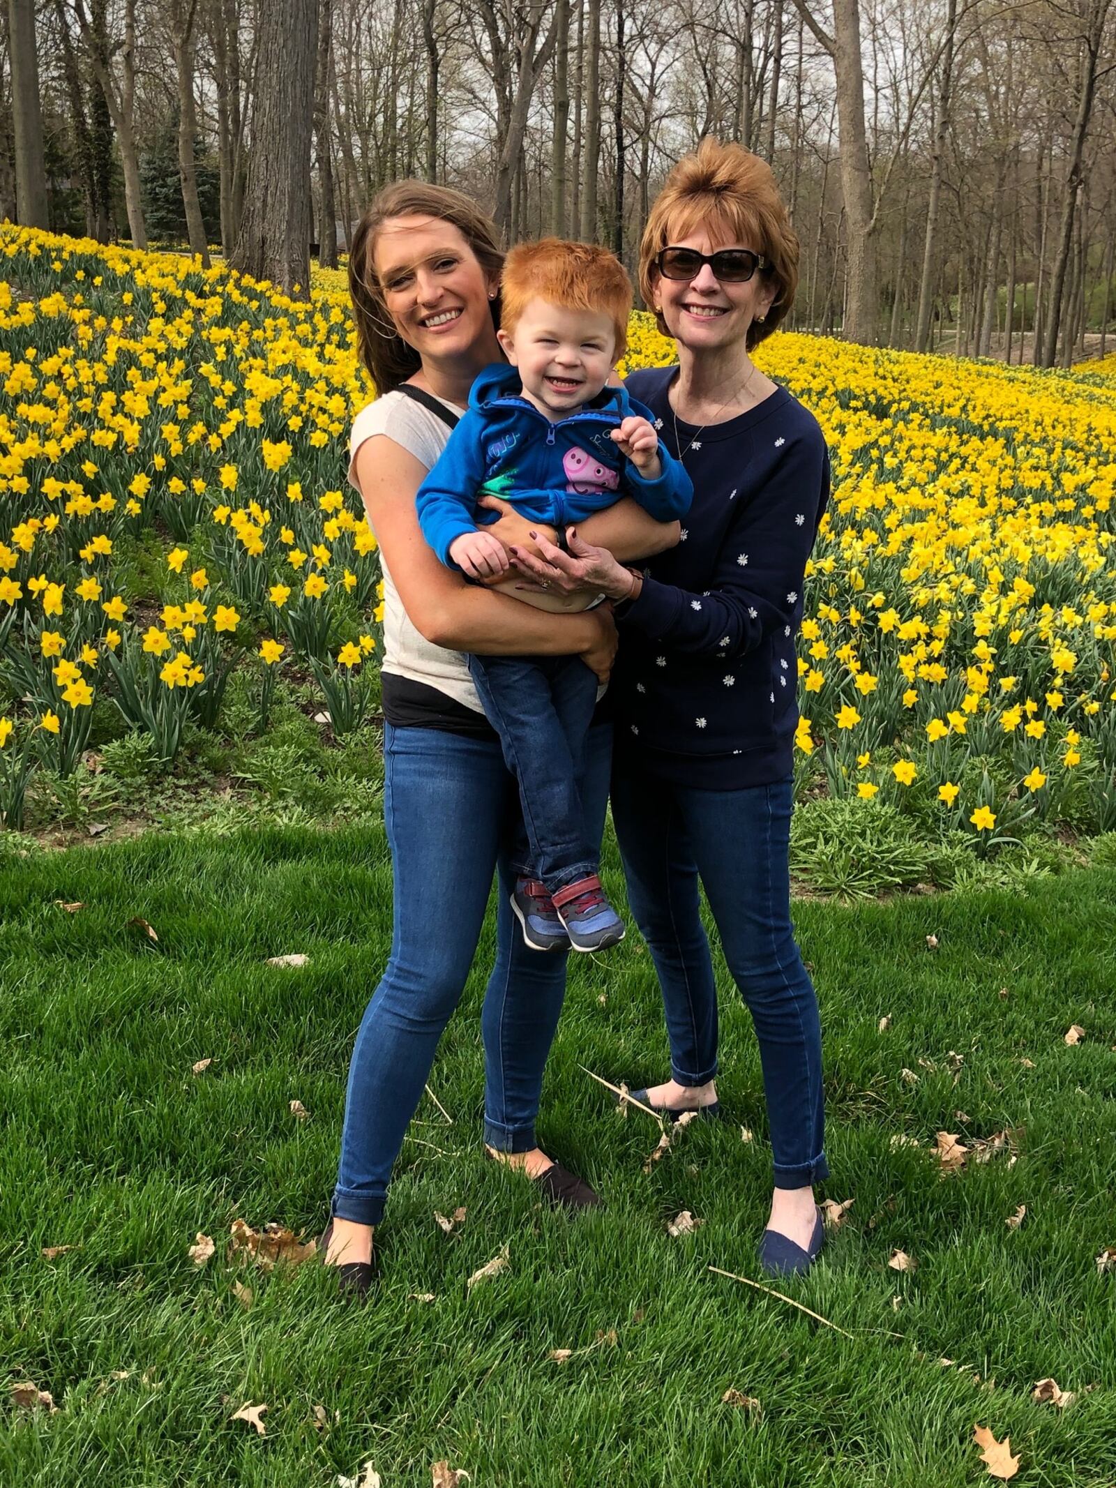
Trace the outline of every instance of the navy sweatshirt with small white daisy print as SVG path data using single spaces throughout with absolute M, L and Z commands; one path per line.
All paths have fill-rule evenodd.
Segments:
M 781 387 L 720 424 L 676 421 L 677 373 L 647 368 L 626 379 L 682 458 L 693 503 L 682 542 L 649 562 L 640 597 L 616 609 L 618 763 L 707 790 L 772 784 L 793 765 L 795 635 L 829 451 L 814 415 Z

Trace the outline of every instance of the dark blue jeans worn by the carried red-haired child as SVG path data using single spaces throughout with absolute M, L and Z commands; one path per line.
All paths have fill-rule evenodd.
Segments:
M 469 673 L 519 786 L 512 868 L 557 894 L 598 868 L 580 790 L 597 677 L 579 656 L 469 656 Z

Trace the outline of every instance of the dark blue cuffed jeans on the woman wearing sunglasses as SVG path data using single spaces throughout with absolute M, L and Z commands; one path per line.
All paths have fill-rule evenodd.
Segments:
M 612 812 L 628 900 L 659 973 L 671 1073 L 705 1085 L 717 1073 L 717 990 L 698 879 L 725 960 L 759 1040 L 775 1186 L 829 1177 L 821 1025 L 790 924 L 790 780 L 698 790 L 613 774 Z

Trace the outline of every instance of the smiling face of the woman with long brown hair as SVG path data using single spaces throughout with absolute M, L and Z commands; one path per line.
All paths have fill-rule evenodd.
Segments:
M 464 234 L 439 217 L 390 217 L 376 232 L 372 266 L 396 330 L 424 360 L 470 354 L 491 339 L 487 275 Z

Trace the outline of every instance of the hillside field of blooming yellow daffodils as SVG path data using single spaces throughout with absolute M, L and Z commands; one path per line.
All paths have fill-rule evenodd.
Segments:
M 65 778 L 124 731 L 173 760 L 220 729 L 234 674 L 260 728 L 287 684 L 357 728 L 379 567 L 345 484 L 372 388 L 342 275 L 307 305 L 10 226 L 0 254 L 0 818 L 21 823 L 36 769 Z M 637 314 L 626 366 L 670 360 Z M 780 333 L 757 362 L 833 457 L 804 789 L 982 851 L 1116 829 L 1116 359 L 1036 372 Z

